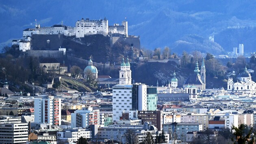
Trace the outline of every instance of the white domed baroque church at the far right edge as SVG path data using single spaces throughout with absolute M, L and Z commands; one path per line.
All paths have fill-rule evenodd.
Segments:
M 252 81 L 251 74 L 245 67 L 244 72 L 237 76 L 237 82 L 234 83 L 233 78 L 228 78 L 228 92 L 243 92 L 247 94 L 256 94 L 256 83 Z

